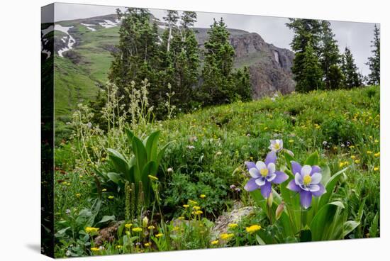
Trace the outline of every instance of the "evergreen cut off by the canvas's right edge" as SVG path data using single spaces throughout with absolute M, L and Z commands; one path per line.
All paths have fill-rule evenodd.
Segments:
M 379 35 L 379 28 L 374 26 L 374 40 L 371 41 L 372 57 L 368 58 L 367 65 L 371 72 L 368 75 L 369 84 L 380 84 L 381 82 L 381 38 Z

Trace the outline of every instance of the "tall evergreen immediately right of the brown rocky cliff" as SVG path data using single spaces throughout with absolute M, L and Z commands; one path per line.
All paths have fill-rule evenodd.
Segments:
M 306 61 L 309 57 L 308 55 L 314 55 L 318 60 L 320 56 L 321 47 L 321 22 L 312 19 L 298 19 L 298 18 L 290 18 L 290 22 L 286 23 L 286 26 L 291 30 L 294 30 L 294 38 L 291 42 L 291 48 L 295 52 L 293 66 L 291 71 L 294 74 L 294 79 L 296 81 L 296 89 L 297 91 L 309 91 L 306 89 L 308 86 L 308 77 L 304 74 L 304 70 L 306 67 Z M 306 48 L 308 45 L 311 45 L 311 49 L 309 52 L 306 52 Z M 317 62 L 316 62 L 317 64 Z M 317 65 L 316 65 L 317 66 Z M 306 68 L 306 71 L 309 68 Z M 320 68 L 321 69 L 321 68 Z M 317 71 L 315 68 L 313 71 Z M 321 75 L 322 78 L 322 75 Z M 314 81 L 317 84 L 317 81 Z M 314 88 L 314 86 L 311 86 Z

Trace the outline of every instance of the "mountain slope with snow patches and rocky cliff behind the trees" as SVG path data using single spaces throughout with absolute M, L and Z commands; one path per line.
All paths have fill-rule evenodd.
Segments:
M 78 103 L 94 99 L 106 82 L 113 59 L 111 52 L 115 52 L 118 43 L 119 22 L 112 14 L 42 26 L 42 52 L 54 55 L 55 59 L 56 116 L 69 116 Z M 158 24 L 162 32 L 164 24 Z M 53 29 L 54 52 L 50 46 L 45 46 L 46 37 Z M 195 29 L 199 46 L 203 48 L 209 29 Z M 255 99 L 275 91 L 286 94 L 294 90 L 293 52 L 265 43 L 257 33 L 228 30 L 230 43 L 235 48 L 235 67 L 249 67 Z

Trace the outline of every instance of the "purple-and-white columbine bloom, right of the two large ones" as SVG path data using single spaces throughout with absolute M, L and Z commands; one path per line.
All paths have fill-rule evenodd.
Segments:
M 294 179 L 291 179 L 287 188 L 299 192 L 301 206 L 308 209 L 311 205 L 312 196 L 321 196 L 324 194 L 325 187 L 321 184 L 321 168 L 318 166 L 304 165 L 303 167 L 295 161 L 291 161 Z

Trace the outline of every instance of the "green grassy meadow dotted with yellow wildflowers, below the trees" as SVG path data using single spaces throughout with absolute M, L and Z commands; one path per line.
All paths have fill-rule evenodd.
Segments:
M 160 239 L 141 237 L 137 239 L 141 243 L 140 248 L 124 250 L 116 248 L 116 245 L 123 245 L 121 235 L 113 243 L 105 243 L 105 250 L 100 252 L 90 252 L 89 246 L 84 246 L 80 250 L 82 255 L 213 248 L 215 245 L 211 245 L 211 240 L 216 238 L 209 233 L 209 229 L 215 218 L 229 210 L 234 200 L 240 200 L 244 206 L 254 205 L 249 194 L 243 190 L 247 181 L 243 163 L 246 160 L 264 160 L 269 151 L 269 140 L 274 138 L 283 139 L 284 147 L 293 151 L 299 162 L 318 151 L 321 162 L 330 166 L 331 173 L 350 165 L 334 194 L 335 200 L 345 204 L 347 218 L 361 221 L 360 226 L 347 238 L 378 236 L 375 215 L 379 212 L 379 93 L 379 87 L 293 93 L 274 100 L 265 98 L 201 109 L 169 121 L 152 123 L 140 132 L 147 135 L 152 130 L 161 130 L 162 144 L 173 141 L 157 174 L 161 182 L 161 207 L 165 221 L 185 216 L 182 205 L 189 199 L 199 201 L 204 211 L 203 218 L 192 220 L 188 217 L 189 223 L 182 223 L 179 228 L 172 222 L 167 226 L 154 223 L 155 234 L 162 231 L 174 234 L 179 229 L 182 231 L 179 238 L 184 238 L 182 241 L 174 236 Z M 82 208 L 90 207 L 91 199 L 96 194 L 93 193 L 94 178 L 84 174 L 80 178 L 80 172 L 74 170 L 74 155 L 69 145 L 57 148 L 56 165 L 66 170 L 66 174 L 56 174 L 57 181 L 67 178 L 66 182 L 70 183 L 64 185 L 63 182 L 55 182 L 58 231 L 63 228 L 61 222 L 69 222 L 66 209 L 73 211 L 77 208 L 74 210 L 77 213 Z M 173 172 L 167 172 L 168 168 L 172 168 Z M 231 184 L 241 191 L 232 191 Z M 76 196 L 77 193 L 80 195 Z M 115 199 L 108 199 L 108 195 L 113 194 L 116 195 Z M 206 194 L 206 199 L 199 199 L 201 194 Z M 114 215 L 117 220 L 123 219 L 123 194 L 106 191 L 102 200 L 96 222 L 102 216 Z M 255 223 L 265 228 L 269 226 L 264 221 L 263 211 L 245 218 L 239 224 L 238 231 L 233 232 L 235 238 L 226 242 L 220 240 L 216 246 L 257 244 L 254 238 L 238 238 L 239 235 L 246 235 L 245 226 Z M 99 224 L 95 223 L 95 226 Z M 73 240 L 70 237 L 59 243 L 58 257 L 71 249 L 69 245 L 74 243 Z M 144 247 L 143 244 L 149 241 L 152 246 Z

